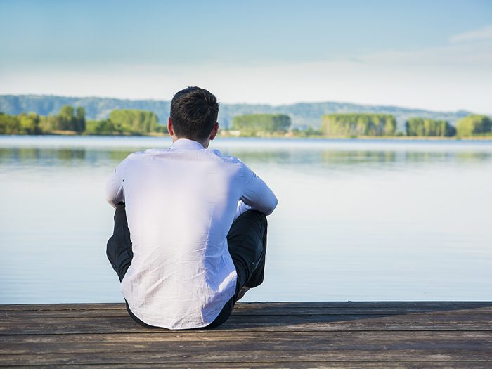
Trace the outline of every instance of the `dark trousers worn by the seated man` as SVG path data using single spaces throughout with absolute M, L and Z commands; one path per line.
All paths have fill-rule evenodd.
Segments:
M 235 219 L 227 235 L 229 254 L 233 259 L 238 281 L 235 294 L 226 303 L 215 320 L 207 325 L 214 328 L 224 323 L 231 315 L 235 302 L 242 287 L 257 287 L 264 279 L 266 255 L 266 216 L 261 212 L 250 210 L 242 213 Z M 131 250 L 130 231 L 128 229 L 127 214 L 123 203 L 119 203 L 115 212 L 115 229 L 108 240 L 106 254 L 112 268 L 121 282 L 134 253 Z M 131 318 L 145 327 L 153 327 L 138 319 L 131 312 L 127 303 L 127 311 Z

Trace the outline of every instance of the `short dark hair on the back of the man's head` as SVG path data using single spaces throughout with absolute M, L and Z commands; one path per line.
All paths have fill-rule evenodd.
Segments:
M 188 87 L 176 92 L 171 101 L 171 121 L 174 134 L 180 138 L 205 140 L 219 116 L 216 97 L 200 87 Z

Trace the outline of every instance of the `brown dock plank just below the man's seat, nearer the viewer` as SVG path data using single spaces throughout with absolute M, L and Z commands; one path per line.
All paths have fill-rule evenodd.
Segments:
M 265 349 L 389 350 L 469 349 L 492 352 L 492 332 L 187 332 L 162 335 L 20 335 L 0 337 L 5 354 L 63 354 L 93 352 L 244 351 Z

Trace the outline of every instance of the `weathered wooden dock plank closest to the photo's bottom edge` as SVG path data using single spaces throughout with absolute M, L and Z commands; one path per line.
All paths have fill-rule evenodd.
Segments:
M 2 355 L 1 365 L 70 365 L 70 364 L 119 364 L 119 363 L 249 363 L 260 362 L 302 362 L 302 361 L 491 361 L 491 354 L 484 351 L 470 350 L 207 350 L 207 351 L 161 351 L 161 352 L 124 352 L 111 351 L 103 353 L 64 353 Z

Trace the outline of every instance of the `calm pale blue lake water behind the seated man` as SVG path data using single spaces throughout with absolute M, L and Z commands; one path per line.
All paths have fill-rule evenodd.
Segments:
M 104 183 L 169 138 L 0 136 L 0 303 L 119 302 Z M 279 198 L 246 301 L 489 300 L 492 141 L 216 139 Z

